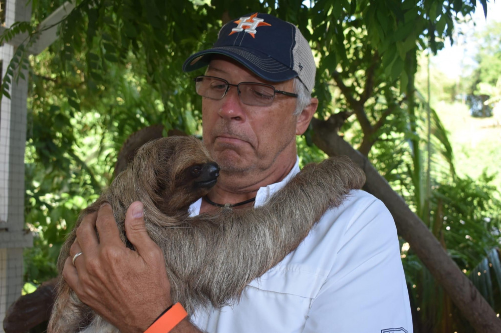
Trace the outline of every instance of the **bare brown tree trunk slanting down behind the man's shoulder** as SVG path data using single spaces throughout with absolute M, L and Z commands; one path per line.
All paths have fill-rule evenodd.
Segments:
M 473 283 L 448 256 L 426 225 L 407 206 L 369 160 L 344 141 L 327 121 L 313 119 L 313 142 L 329 156 L 347 155 L 364 170 L 364 189 L 388 207 L 398 233 L 409 243 L 435 279 L 478 333 L 501 332 L 501 320 Z

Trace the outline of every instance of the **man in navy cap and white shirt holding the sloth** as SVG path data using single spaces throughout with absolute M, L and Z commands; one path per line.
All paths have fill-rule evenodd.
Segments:
M 195 80 L 203 142 L 221 170 L 192 213 L 263 204 L 299 172 L 295 136 L 318 105 L 311 49 L 294 25 L 254 13 L 224 25 L 213 48 L 190 56 L 183 69 L 205 65 Z M 238 303 L 200 309 L 172 331 L 412 331 L 393 219 L 372 195 L 350 194 Z M 146 233 L 142 211 L 134 202 L 125 221 L 136 251 L 121 242 L 109 205 L 89 215 L 63 271 L 80 299 L 123 332 L 144 331 L 172 305 L 162 252 Z

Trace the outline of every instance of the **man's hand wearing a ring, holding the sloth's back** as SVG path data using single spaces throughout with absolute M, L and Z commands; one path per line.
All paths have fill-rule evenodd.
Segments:
M 99 240 L 95 228 L 99 233 Z M 66 259 L 63 277 L 78 297 L 122 332 L 143 332 L 172 304 L 163 253 L 144 225 L 143 204 L 125 217 L 125 246 L 109 204 L 87 215 Z M 83 252 L 72 264 L 73 256 Z

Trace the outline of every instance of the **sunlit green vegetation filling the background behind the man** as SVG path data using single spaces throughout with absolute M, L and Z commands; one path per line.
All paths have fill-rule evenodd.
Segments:
M 32 21 L 18 30 L 36 38 L 38 24 L 63 1 L 32 2 Z M 118 151 L 131 133 L 163 124 L 166 130 L 200 134 L 200 100 L 192 75 L 181 72 L 182 62 L 210 46 L 225 21 L 261 11 L 298 24 L 310 41 L 318 60 L 318 118 L 330 121 L 370 158 L 501 311 L 501 213 L 494 172 L 499 111 L 492 111 L 501 83 L 500 71 L 491 70 L 501 66 L 501 27 L 478 36 L 478 66 L 459 82 L 428 71 L 426 58 L 453 38 L 456 20 L 486 10 L 485 0 L 76 3 L 58 41 L 37 56 L 27 57 L 20 47 L 10 65 L 17 79 L 22 59 L 30 64 L 26 222 L 37 237 L 25 253 L 26 281 L 37 285 L 56 275 L 65 234 L 80 209 L 112 180 Z M 5 79 L 3 91 L 8 85 Z M 490 137 L 456 131 L 458 121 L 491 121 Z M 303 163 L 325 157 L 312 142 L 314 130 L 298 139 Z M 455 135 L 476 139 L 476 145 L 453 146 Z M 464 162 L 469 156 L 476 165 Z M 483 172 L 480 161 L 488 161 Z M 415 331 L 473 331 L 408 243 L 401 243 Z

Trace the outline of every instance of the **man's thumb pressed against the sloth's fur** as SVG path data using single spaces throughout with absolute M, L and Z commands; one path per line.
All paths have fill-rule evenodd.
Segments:
M 146 231 L 143 208 L 141 201 L 134 201 L 125 214 L 125 234 L 139 253 L 155 244 Z

